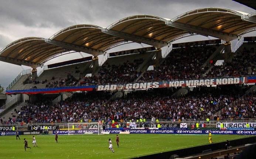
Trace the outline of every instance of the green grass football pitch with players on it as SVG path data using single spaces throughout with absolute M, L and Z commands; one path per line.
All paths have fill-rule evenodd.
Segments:
M 38 147 L 33 147 L 33 135 L 0 136 L 1 159 L 129 159 L 176 149 L 209 144 L 208 135 L 174 134 L 116 134 L 105 135 L 35 135 Z M 245 135 L 212 135 L 214 143 L 245 138 Z M 23 139 L 28 141 L 24 151 Z M 109 150 L 109 138 L 115 153 Z

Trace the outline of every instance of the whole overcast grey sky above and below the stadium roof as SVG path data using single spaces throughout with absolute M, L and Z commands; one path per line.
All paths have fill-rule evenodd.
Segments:
M 255 11 L 232 0 L 1 0 L 0 49 L 23 37 L 49 38 L 59 30 L 75 24 L 107 27 L 121 18 L 136 14 L 172 19 L 203 7 L 223 7 L 247 13 Z M 47 64 L 71 58 L 81 56 L 69 55 Z M 20 66 L 0 61 L 0 84 L 6 87 L 21 71 Z

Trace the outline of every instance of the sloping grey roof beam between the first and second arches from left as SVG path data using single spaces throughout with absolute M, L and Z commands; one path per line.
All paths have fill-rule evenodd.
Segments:
M 106 54 L 104 51 L 100 51 L 100 50 L 96 50 L 96 49 L 88 48 L 88 47 L 84 47 L 84 46 L 78 46 L 75 44 L 70 44 L 70 43 L 66 43 L 66 42 L 62 42 L 62 41 L 58 41 L 58 40 L 45 39 L 45 42 L 48 44 L 63 47 L 63 48 L 69 49 L 69 50 L 88 53 L 93 56 Z

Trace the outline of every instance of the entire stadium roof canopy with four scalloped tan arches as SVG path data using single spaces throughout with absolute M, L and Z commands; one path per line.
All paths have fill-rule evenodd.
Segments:
M 173 19 L 133 15 L 107 28 L 80 24 L 64 28 L 49 39 L 26 37 L 16 40 L 0 50 L 0 60 L 36 68 L 68 53 L 85 52 L 93 56 L 106 54 L 110 48 L 127 41 L 161 48 L 192 33 L 231 41 L 255 29 L 256 12 L 248 14 L 226 8 L 201 8 Z

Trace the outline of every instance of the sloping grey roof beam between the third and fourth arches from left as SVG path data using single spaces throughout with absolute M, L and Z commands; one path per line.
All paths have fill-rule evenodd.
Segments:
M 187 30 L 188 32 L 192 32 L 192 33 L 197 33 L 199 35 L 203 35 L 203 36 L 212 36 L 212 37 L 216 37 L 225 41 L 231 41 L 231 40 L 235 40 L 235 39 L 240 39 L 241 36 L 237 36 L 234 34 L 228 34 L 225 32 L 219 32 L 216 30 L 212 30 L 212 29 L 206 29 L 206 28 L 202 28 L 202 27 L 198 27 L 198 26 L 193 26 L 193 25 L 185 25 L 179 22 L 171 22 L 169 21 L 168 26 L 172 26 L 174 28 L 180 28 L 183 30 Z

